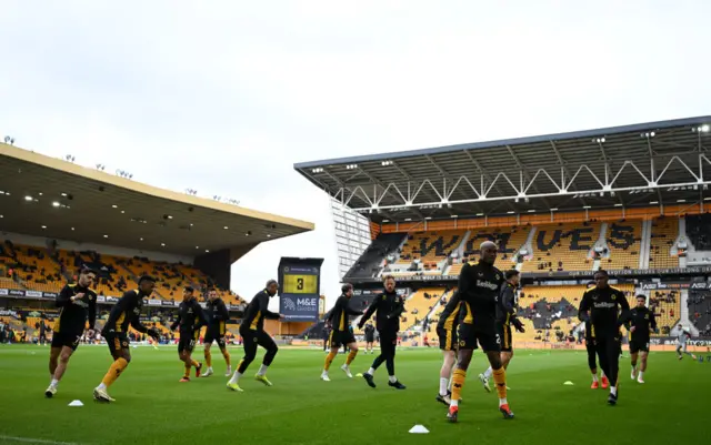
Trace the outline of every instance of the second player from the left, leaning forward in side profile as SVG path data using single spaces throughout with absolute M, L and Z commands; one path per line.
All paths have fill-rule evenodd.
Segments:
M 138 289 L 128 291 L 116 303 L 109 320 L 103 325 L 101 335 L 109 345 L 109 351 L 113 357 L 113 363 L 103 376 L 101 384 L 93 390 L 93 398 L 98 402 L 114 402 L 109 396 L 109 386 L 121 375 L 131 362 L 131 351 L 129 350 L 129 324 L 138 332 L 158 340 L 159 332 L 152 327 L 146 327 L 141 324 L 139 316 L 143 307 L 143 299 L 149 297 L 156 287 L 156 280 L 151 276 L 143 275 L 138 281 Z

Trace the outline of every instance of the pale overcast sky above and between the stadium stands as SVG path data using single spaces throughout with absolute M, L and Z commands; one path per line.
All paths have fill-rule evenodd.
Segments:
M 17 145 L 317 224 L 236 263 L 248 299 L 291 255 L 338 294 L 294 162 L 711 114 L 711 1 L 0 3 Z

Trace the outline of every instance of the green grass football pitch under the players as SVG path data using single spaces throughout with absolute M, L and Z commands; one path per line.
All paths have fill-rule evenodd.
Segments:
M 44 398 L 49 347 L 0 347 L 0 444 L 600 444 L 698 443 L 711 401 L 711 363 L 678 361 L 673 353 L 651 353 L 647 383 L 630 380 L 622 358 L 620 400 L 608 406 L 604 390 L 590 390 L 584 352 L 517 351 L 509 373 L 504 421 L 495 393 L 485 393 L 477 375 L 485 368 L 474 354 L 463 390 L 459 424 L 434 401 L 441 355 L 438 350 L 398 351 L 397 375 L 408 388 L 387 385 L 384 365 L 375 390 L 331 367 L 331 382 L 319 380 L 321 351 L 282 347 L 268 377 L 253 381 L 263 351 L 240 381 L 243 393 L 226 388 L 224 361 L 213 347 L 216 375 L 178 383 L 182 363 L 176 346 L 131 348 L 133 360 L 111 386 L 112 404 L 92 401 L 92 390 L 110 365 L 106 346 L 80 346 L 58 394 Z M 236 365 L 242 353 L 230 348 Z M 627 352 L 625 352 L 627 354 Z M 196 351 L 202 358 L 202 350 Z M 353 373 L 374 355 L 359 353 Z M 194 373 L 193 373 L 194 375 Z M 563 385 L 565 381 L 572 386 Z M 73 400 L 82 407 L 69 407 Z M 409 434 L 415 424 L 429 434 Z

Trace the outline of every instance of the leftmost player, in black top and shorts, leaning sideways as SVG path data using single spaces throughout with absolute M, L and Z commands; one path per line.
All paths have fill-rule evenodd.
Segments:
M 77 284 L 67 284 L 54 301 L 57 307 L 61 307 L 59 316 L 54 321 L 54 335 L 49 353 L 49 374 L 51 382 L 44 395 L 52 397 L 57 394 L 59 381 L 62 380 L 69 358 L 77 351 L 79 340 L 87 326 L 89 318 L 90 337 L 94 336 L 94 323 L 97 322 L 97 293 L 89 286 L 97 279 L 97 274 L 90 269 L 83 269 L 79 274 Z M 44 325 L 44 320 L 40 320 Z

